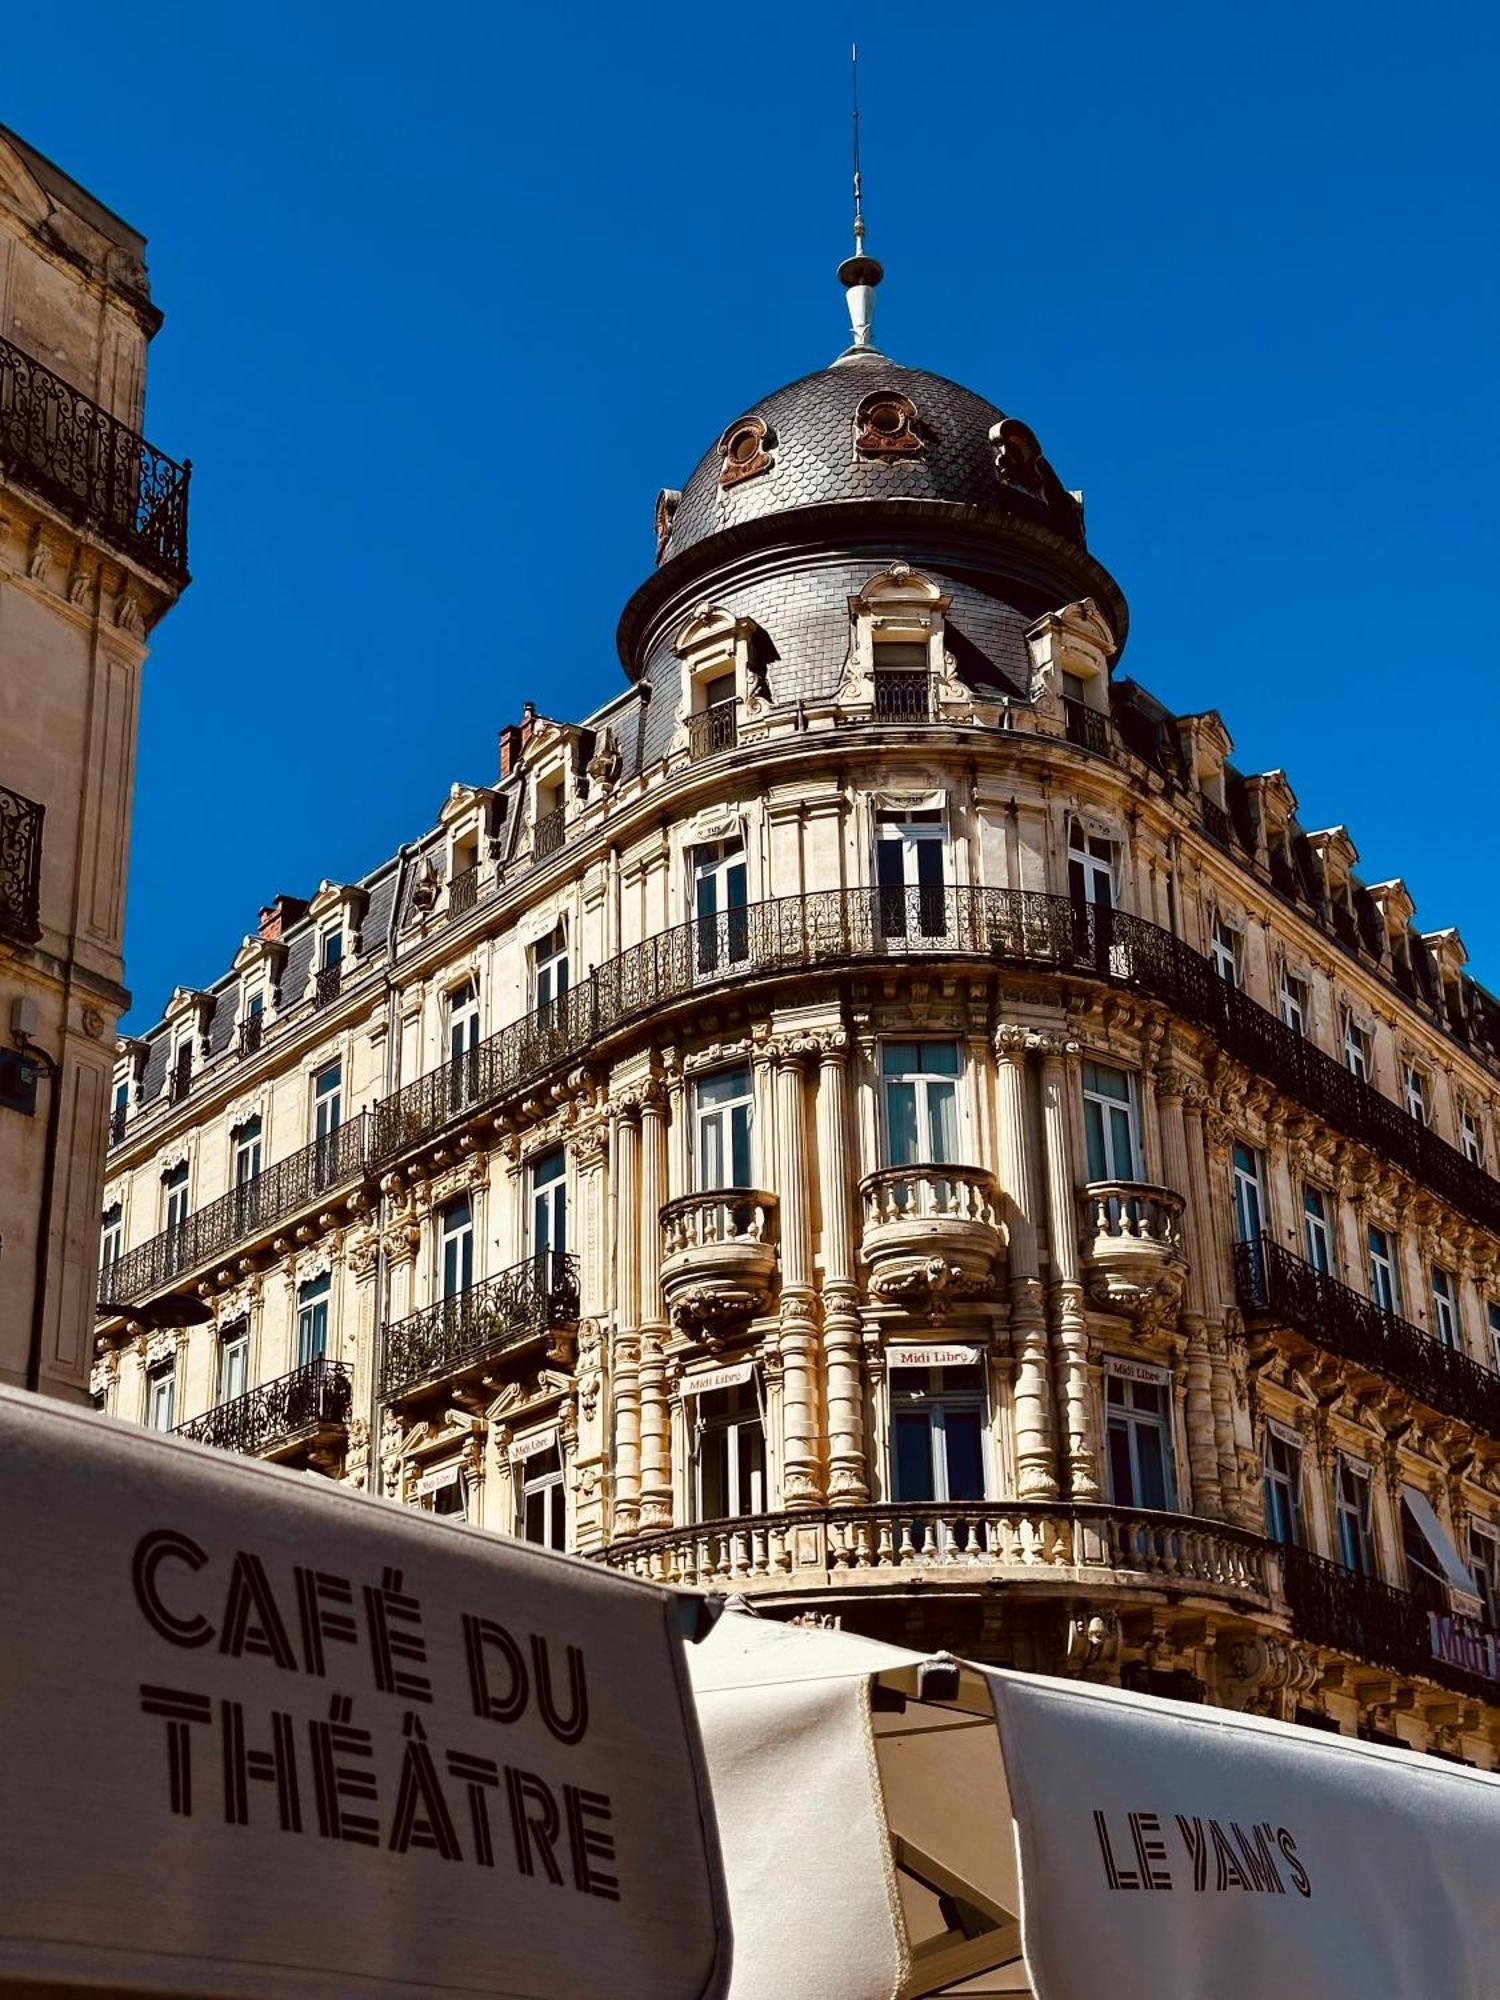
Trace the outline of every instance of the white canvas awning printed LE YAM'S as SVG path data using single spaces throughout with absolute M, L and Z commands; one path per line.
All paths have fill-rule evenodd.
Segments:
M 726 1616 L 690 1650 L 734 2000 L 1482 2000 L 1500 1778 Z

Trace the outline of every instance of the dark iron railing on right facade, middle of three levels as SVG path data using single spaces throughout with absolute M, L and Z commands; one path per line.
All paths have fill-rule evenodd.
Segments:
M 1384 1312 L 1374 1300 L 1262 1236 L 1238 1244 L 1234 1280 L 1252 1320 L 1282 1320 L 1306 1340 L 1396 1382 L 1428 1410 L 1500 1438 L 1500 1374 Z

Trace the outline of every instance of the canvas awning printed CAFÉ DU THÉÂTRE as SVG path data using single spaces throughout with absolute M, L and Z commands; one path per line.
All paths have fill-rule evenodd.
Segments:
M 0 1992 L 724 1992 L 694 1600 L 0 1390 Z

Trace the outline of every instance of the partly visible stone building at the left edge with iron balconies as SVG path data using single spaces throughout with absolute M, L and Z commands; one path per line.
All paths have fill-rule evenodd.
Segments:
M 0 128 L 0 1382 L 88 1398 L 146 638 L 188 468 L 140 436 L 144 240 Z

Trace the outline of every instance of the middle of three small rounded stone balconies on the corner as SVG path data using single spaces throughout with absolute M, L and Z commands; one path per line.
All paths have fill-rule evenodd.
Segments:
M 982 1166 L 882 1166 L 860 1182 L 870 1292 L 894 1306 L 988 1298 L 1000 1254 L 994 1180 Z

